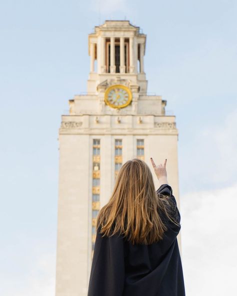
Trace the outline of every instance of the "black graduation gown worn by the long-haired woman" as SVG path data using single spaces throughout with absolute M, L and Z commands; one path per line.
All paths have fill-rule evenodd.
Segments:
M 156 192 L 170 196 L 172 215 L 180 213 L 171 186 L 162 184 Z M 88 296 L 185 296 L 177 226 L 165 218 L 168 230 L 162 240 L 134 244 L 120 235 L 110 237 L 97 230 L 91 264 Z

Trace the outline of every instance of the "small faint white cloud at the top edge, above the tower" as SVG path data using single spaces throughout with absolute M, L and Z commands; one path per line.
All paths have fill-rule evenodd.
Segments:
M 127 11 L 127 3 L 126 0 L 92 0 L 90 8 L 103 15 L 106 13 Z

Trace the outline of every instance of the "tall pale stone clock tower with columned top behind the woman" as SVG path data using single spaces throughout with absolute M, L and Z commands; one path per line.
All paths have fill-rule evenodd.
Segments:
M 143 159 L 153 172 L 150 156 L 167 158 L 178 201 L 175 116 L 161 96 L 147 95 L 145 42 L 127 20 L 107 20 L 88 35 L 87 94 L 69 100 L 59 128 L 56 296 L 87 294 L 96 216 L 126 160 Z

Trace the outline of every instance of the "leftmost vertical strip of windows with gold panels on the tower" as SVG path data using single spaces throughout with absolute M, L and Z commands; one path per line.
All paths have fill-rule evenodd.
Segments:
M 100 208 L 100 139 L 93 139 L 92 147 L 92 227 L 91 227 L 91 259 L 93 257 L 96 238 L 95 224 Z

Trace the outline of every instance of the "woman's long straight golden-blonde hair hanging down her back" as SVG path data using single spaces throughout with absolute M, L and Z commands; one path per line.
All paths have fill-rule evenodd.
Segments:
M 116 232 L 134 243 L 151 244 L 163 238 L 166 225 L 160 217 L 169 214 L 168 196 L 157 194 L 152 173 L 141 159 L 126 161 L 120 168 L 108 202 L 100 209 L 96 229 L 106 236 Z

